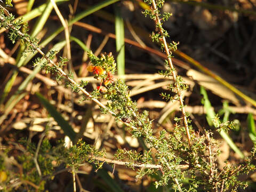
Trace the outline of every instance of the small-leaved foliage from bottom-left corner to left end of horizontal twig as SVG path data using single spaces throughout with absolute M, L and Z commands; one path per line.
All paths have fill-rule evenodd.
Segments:
M 15 164 L 11 163 L 15 162 L 13 160 L 7 161 L 7 153 L 0 156 L 0 171 L 7 171 L 10 173 L 9 177 L 21 181 L 17 182 L 18 186 L 16 185 L 15 188 L 19 188 L 19 190 L 26 189 L 27 191 L 44 191 L 46 176 L 51 176 L 55 168 L 61 163 L 65 163 L 66 167 L 70 167 L 71 170 L 76 170 L 83 163 L 90 162 L 94 163 L 99 169 L 103 163 L 91 157 L 105 156 L 105 151 L 95 150 L 82 140 L 68 149 L 64 147 L 62 141 L 59 141 L 56 147 L 52 147 L 48 139 L 43 139 L 40 146 L 36 146 L 28 139 L 21 139 L 19 148 L 21 150 L 16 157 L 17 163 Z M 37 161 L 35 161 L 35 158 Z M 15 171 L 17 165 L 20 169 L 18 172 Z M 11 186 L 6 185 L 6 187 L 8 188 L 7 191 L 13 191 Z

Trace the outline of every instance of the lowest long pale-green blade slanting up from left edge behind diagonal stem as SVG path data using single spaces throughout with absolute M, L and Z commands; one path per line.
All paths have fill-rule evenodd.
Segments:
M 61 49 L 63 49 L 63 47 L 66 45 L 66 41 L 62 41 L 59 42 L 57 44 L 55 44 L 52 49 L 50 51 L 57 51 L 59 52 Z M 46 54 L 47 56 L 49 56 L 50 51 Z M 42 62 L 45 62 L 46 59 L 43 59 Z M 33 70 L 33 73 L 29 74 L 28 77 L 25 79 L 25 81 L 23 81 L 21 83 L 21 85 L 19 86 L 17 92 L 15 92 L 12 97 L 8 100 L 8 102 L 6 103 L 5 107 L 4 107 L 4 115 L 7 115 L 10 113 L 10 111 L 13 109 L 13 107 L 26 95 L 23 95 L 23 97 L 20 97 L 20 93 L 23 93 L 24 90 L 26 89 L 28 83 L 35 77 L 35 75 L 37 73 L 39 73 L 39 71 L 41 70 L 40 66 L 36 66 L 35 69 Z M 0 118 L 0 124 L 1 124 L 1 119 L 4 117 Z

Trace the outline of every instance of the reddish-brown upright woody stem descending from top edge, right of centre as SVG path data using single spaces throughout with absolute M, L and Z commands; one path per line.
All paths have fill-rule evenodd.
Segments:
M 152 0 L 152 4 L 153 4 L 153 14 L 155 14 L 155 21 L 157 22 L 157 25 L 158 26 L 162 26 L 162 23 L 161 23 L 161 20 L 159 18 L 159 15 L 157 13 L 157 6 L 156 6 L 156 3 L 155 3 L 155 0 Z M 185 125 L 185 129 L 186 129 L 186 134 L 187 134 L 187 138 L 188 138 L 188 145 L 189 147 L 191 147 L 191 142 L 190 142 L 190 133 L 189 133 L 189 129 L 188 129 L 188 121 L 187 121 L 187 116 L 186 116 L 186 111 L 185 111 L 185 108 L 184 108 L 184 105 L 183 105 L 183 100 L 181 98 L 181 90 L 180 90 L 180 86 L 179 84 L 177 83 L 177 76 L 176 76 L 176 73 L 174 71 L 174 67 L 173 67 L 173 64 L 172 64 L 172 60 L 171 60 L 171 54 L 170 54 L 170 50 L 167 46 L 167 43 L 166 43 L 166 39 L 165 39 L 165 36 L 163 34 L 163 28 L 159 27 L 159 32 L 160 34 L 162 35 L 162 42 L 164 44 L 164 50 L 165 50 L 165 54 L 167 56 L 167 60 L 168 60 L 168 63 L 169 63 L 169 66 L 170 68 L 172 69 L 171 70 L 171 73 L 172 73 L 172 77 L 173 77 L 173 81 L 174 81 L 174 84 L 175 84 L 175 87 L 176 87 L 176 92 L 178 94 L 178 97 L 179 97 L 179 102 L 180 102 L 180 106 L 181 106 L 181 112 L 182 112 L 182 118 L 183 118 L 183 122 L 184 122 L 184 125 Z

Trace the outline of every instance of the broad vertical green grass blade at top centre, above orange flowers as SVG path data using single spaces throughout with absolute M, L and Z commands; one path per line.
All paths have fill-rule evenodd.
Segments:
M 125 52 L 124 52 L 124 20 L 120 8 L 115 6 L 115 29 L 116 29 L 116 63 L 118 75 L 125 74 Z

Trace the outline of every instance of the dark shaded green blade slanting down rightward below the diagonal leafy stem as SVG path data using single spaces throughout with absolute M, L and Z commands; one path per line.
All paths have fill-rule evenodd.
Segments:
M 55 121 L 64 131 L 65 135 L 67 135 L 71 141 L 74 141 L 76 137 L 76 132 L 72 129 L 68 122 L 61 116 L 61 114 L 55 109 L 55 107 L 52 106 L 51 103 L 43 97 L 43 95 L 41 95 L 40 93 L 36 93 L 36 97 L 51 114 L 51 116 L 55 119 Z

